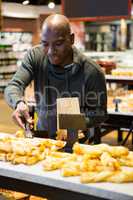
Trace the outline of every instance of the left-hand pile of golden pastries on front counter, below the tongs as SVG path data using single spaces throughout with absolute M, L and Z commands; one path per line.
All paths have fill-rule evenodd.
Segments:
M 0 138 L 0 160 L 12 164 L 32 165 L 64 146 L 63 141 L 5 136 Z

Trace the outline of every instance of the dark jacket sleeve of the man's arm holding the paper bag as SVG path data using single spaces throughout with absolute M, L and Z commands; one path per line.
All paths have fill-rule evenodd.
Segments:
M 85 115 L 87 127 L 97 127 L 107 118 L 107 90 L 103 72 L 96 66 L 86 81 Z

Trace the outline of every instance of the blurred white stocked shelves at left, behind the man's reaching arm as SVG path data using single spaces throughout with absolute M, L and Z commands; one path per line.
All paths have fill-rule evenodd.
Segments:
M 25 52 L 31 47 L 31 33 L 0 32 L 0 92 L 4 91 Z

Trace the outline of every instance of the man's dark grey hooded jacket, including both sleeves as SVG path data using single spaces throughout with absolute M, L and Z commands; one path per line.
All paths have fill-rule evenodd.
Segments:
M 79 97 L 81 112 L 89 119 L 88 127 L 106 118 L 107 94 L 105 77 L 96 63 L 73 47 L 73 63 L 60 68 L 50 64 L 41 45 L 27 52 L 22 64 L 5 89 L 5 99 L 13 108 L 24 99 L 25 88 L 34 81 L 38 130 L 56 132 L 56 99 Z

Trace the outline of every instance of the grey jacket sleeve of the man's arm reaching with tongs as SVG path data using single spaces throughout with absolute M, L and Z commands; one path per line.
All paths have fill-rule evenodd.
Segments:
M 5 99 L 11 108 L 15 109 L 17 102 L 24 99 L 24 90 L 32 79 L 33 52 L 30 50 L 4 91 Z

